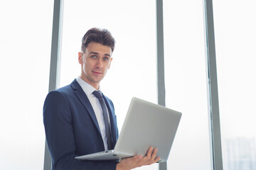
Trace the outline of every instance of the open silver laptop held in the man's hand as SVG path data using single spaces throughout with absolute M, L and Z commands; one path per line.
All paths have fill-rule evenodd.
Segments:
M 158 149 L 160 162 L 166 162 L 174 142 L 181 113 L 139 98 L 132 98 L 114 149 L 86 154 L 76 159 L 119 161 L 137 154 L 146 155 L 149 147 Z

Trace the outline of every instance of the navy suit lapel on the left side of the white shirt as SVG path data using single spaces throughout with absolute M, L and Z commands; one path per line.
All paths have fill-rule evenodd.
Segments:
M 80 102 L 82 103 L 82 105 L 85 106 L 85 109 L 87 110 L 87 113 L 90 115 L 90 117 L 92 118 L 93 123 L 95 123 L 95 126 L 96 126 L 97 130 L 100 132 L 100 127 L 99 127 L 99 124 L 97 122 L 95 112 L 93 111 L 92 105 L 89 101 L 89 98 L 87 98 L 85 92 L 82 90 L 81 86 L 78 84 L 78 81 L 74 80 L 71 83 L 71 86 L 74 89 L 75 96 L 77 96 L 78 99 L 80 100 Z

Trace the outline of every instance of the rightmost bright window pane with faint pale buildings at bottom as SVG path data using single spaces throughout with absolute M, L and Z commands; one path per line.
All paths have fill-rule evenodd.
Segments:
M 255 7 L 250 0 L 213 1 L 225 170 L 256 169 Z

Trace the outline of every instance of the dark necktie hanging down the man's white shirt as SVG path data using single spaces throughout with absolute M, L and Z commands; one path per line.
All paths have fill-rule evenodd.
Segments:
M 106 135 L 107 135 L 107 149 L 113 149 L 112 147 L 112 137 L 111 137 L 111 132 L 110 132 L 110 123 L 107 115 L 107 106 L 106 103 L 103 99 L 102 92 L 101 91 L 93 91 L 92 94 L 96 96 L 99 101 L 100 101 L 100 106 L 102 106 L 102 111 L 103 111 L 103 118 L 105 122 L 105 129 L 106 129 Z

